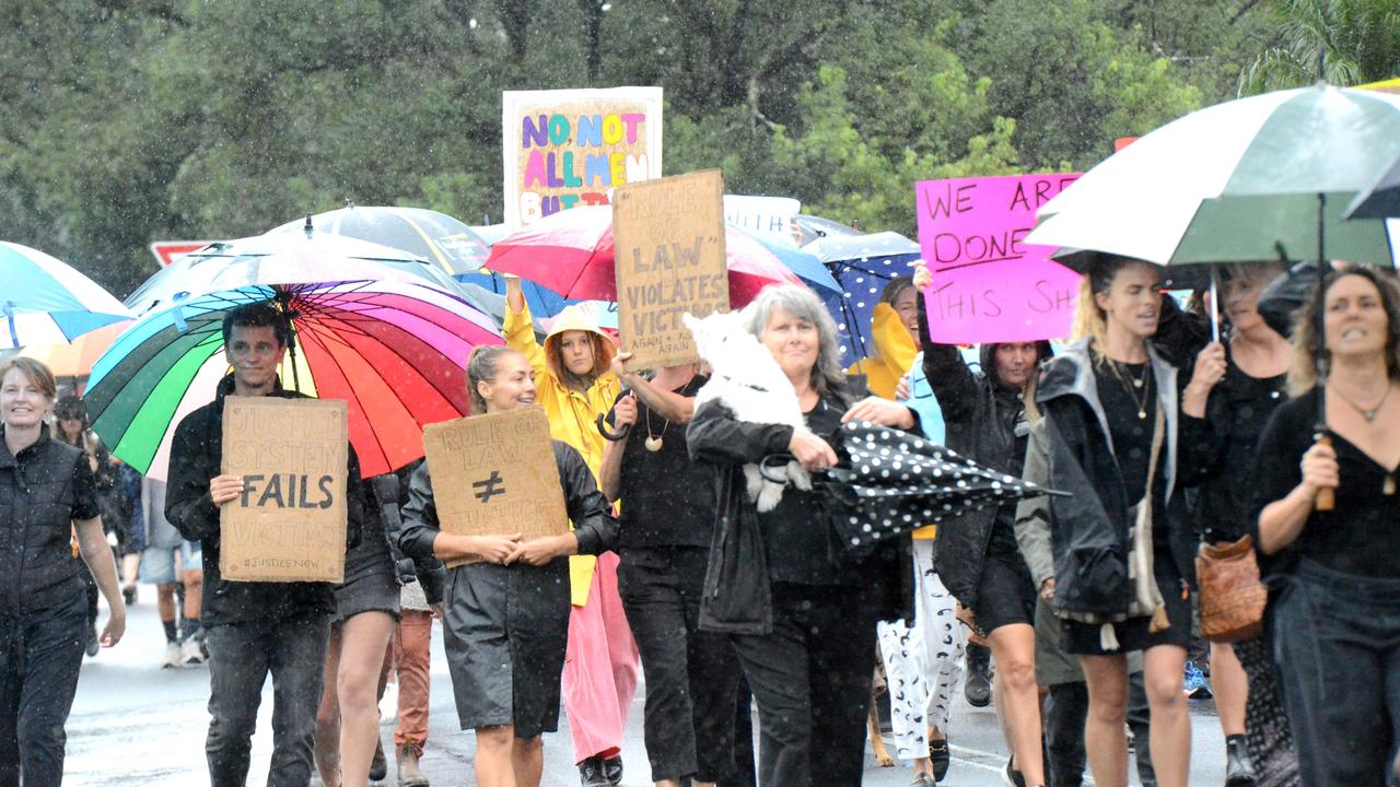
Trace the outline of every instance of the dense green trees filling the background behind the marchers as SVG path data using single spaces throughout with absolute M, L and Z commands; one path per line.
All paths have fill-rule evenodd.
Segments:
M 479 223 L 503 90 L 619 84 L 665 87 L 668 171 L 913 232 L 916 179 L 1085 167 L 1225 98 L 1259 1 L 0 0 L 0 238 L 125 294 L 151 241 L 346 200 Z

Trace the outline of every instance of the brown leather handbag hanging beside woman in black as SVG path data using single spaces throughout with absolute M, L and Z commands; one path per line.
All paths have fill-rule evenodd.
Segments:
M 1201 634 L 1212 643 L 1235 643 L 1260 636 L 1268 591 L 1259 581 L 1254 541 L 1203 543 L 1196 555 L 1201 585 Z

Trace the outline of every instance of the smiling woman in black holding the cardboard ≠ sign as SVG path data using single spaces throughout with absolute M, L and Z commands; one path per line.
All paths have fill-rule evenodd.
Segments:
M 522 353 L 477 347 L 466 368 L 472 412 L 535 405 L 535 371 Z M 409 556 L 479 560 L 448 571 L 442 634 L 462 728 L 476 730 L 482 787 L 539 784 L 540 734 L 559 728 L 560 675 L 568 636 L 570 555 L 598 555 L 617 536 L 608 500 L 582 457 L 554 441 L 571 532 L 468 536 L 438 528 L 424 464 L 409 482 L 399 546 Z

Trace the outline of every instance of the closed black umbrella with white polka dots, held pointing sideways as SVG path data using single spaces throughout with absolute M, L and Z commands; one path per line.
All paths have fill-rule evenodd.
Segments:
M 841 545 L 861 549 L 1004 501 L 1065 494 L 979 465 L 920 434 L 869 422 L 841 429 L 826 500 Z

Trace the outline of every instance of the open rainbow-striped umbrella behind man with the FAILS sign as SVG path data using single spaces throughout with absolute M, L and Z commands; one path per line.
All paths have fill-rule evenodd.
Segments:
M 291 315 L 287 388 L 350 406 L 350 443 L 365 478 L 423 457 L 423 427 L 468 412 L 466 358 L 503 343 L 490 316 L 412 281 L 256 286 L 196 295 L 141 316 L 98 358 L 92 429 L 143 475 L 167 476 L 175 426 L 214 399 L 228 374 L 223 321 L 273 301 Z

